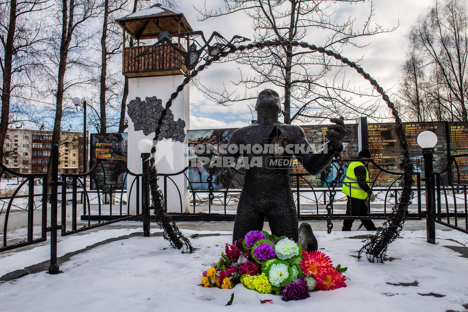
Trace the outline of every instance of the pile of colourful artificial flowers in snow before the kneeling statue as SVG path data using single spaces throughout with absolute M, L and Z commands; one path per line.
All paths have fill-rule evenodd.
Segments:
M 231 289 L 241 283 L 260 293 L 281 295 L 285 301 L 300 300 L 314 289 L 346 287 L 345 270 L 340 265 L 334 268 L 322 252 L 302 250 L 285 236 L 250 231 L 233 245 L 226 244 L 218 263 L 203 272 L 202 285 Z

